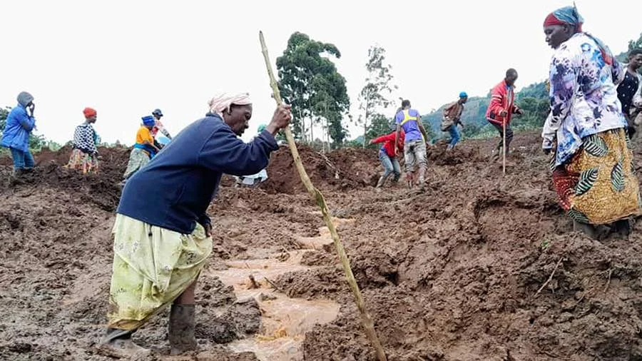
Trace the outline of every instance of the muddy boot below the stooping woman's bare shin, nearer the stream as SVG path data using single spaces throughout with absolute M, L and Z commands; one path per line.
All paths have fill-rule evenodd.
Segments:
M 168 327 L 171 355 L 196 350 L 194 313 L 195 305 L 172 305 Z

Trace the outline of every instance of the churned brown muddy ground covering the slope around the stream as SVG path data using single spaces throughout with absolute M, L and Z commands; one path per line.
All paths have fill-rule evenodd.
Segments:
M 628 240 L 574 233 L 539 142 L 516 134 L 506 178 L 489 161 L 496 140 L 452 153 L 429 148 L 425 193 L 402 184 L 375 192 L 376 151 L 302 149 L 332 214 L 354 220 L 340 236 L 389 360 L 642 360 L 642 227 Z M 88 177 L 61 168 L 68 153 L 36 155 L 39 168 L 21 185 L 9 185 L 10 161 L 0 161 L 0 360 L 111 360 L 96 344 L 128 151 L 101 149 L 101 173 Z M 290 153 L 275 153 L 267 171 L 259 189 L 226 179 L 211 205 L 214 252 L 197 290 L 200 352 L 188 360 L 257 360 L 230 342 L 265 333 L 264 300 L 239 300 L 215 273 L 232 260 L 282 253 L 285 261 L 319 235 L 322 220 Z M 259 287 L 333 300 L 340 310 L 305 332 L 292 360 L 375 360 L 333 248 L 307 250 L 301 263 L 307 268 Z M 155 348 L 150 360 L 167 359 L 166 316 L 134 336 Z

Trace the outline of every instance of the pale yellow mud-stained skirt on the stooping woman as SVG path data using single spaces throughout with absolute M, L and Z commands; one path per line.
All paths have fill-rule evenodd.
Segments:
M 108 327 L 136 330 L 170 305 L 195 280 L 212 253 L 212 238 L 149 225 L 117 214 Z

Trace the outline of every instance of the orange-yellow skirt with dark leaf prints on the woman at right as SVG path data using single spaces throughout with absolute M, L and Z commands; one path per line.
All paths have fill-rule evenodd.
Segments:
M 629 143 L 623 128 L 593 134 L 570 161 L 553 169 L 559 203 L 571 218 L 601 225 L 641 214 Z

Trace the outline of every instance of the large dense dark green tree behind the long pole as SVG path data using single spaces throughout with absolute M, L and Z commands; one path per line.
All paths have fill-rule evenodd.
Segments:
M 333 146 L 341 146 L 347 132 L 342 118 L 350 108 L 345 78 L 327 56 L 340 58 L 339 49 L 295 32 L 287 48 L 277 58 L 279 88 L 287 103 L 292 105 L 292 133 L 300 141 L 307 140 L 306 120 L 310 121 L 310 140 L 314 139 L 313 125 L 325 121 Z

